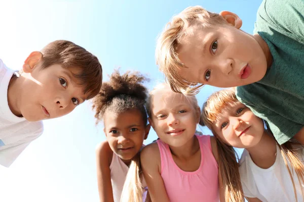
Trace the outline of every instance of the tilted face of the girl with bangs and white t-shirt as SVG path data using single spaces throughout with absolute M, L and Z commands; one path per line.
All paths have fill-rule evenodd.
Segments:
M 264 132 L 263 121 L 240 102 L 229 104 L 212 127 L 223 142 L 237 148 L 255 146 Z

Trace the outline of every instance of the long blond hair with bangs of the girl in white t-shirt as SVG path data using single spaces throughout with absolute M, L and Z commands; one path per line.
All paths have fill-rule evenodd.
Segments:
M 244 195 L 239 174 L 238 156 L 234 156 L 236 151 L 230 145 L 225 144 L 217 136 L 213 129 L 213 123 L 217 120 L 217 116 L 225 108 L 236 104 L 238 101 L 235 89 L 224 89 L 213 93 L 203 105 L 201 113 L 201 125 L 207 126 L 214 134 L 217 140 L 219 153 L 219 169 L 221 171 L 223 185 L 225 189 L 226 201 L 244 201 Z M 269 127 L 268 127 L 269 128 Z M 271 131 L 269 130 L 270 134 Z M 278 143 L 277 143 L 278 144 Z M 298 177 L 299 183 L 304 183 L 304 165 L 301 161 L 302 157 L 293 148 L 296 143 L 286 142 L 279 145 L 281 155 L 292 180 L 295 197 L 296 188 L 292 175 L 295 173 Z M 279 155 L 279 154 L 277 154 Z M 290 164 L 290 167 L 289 167 Z M 303 194 L 303 190 L 302 190 Z

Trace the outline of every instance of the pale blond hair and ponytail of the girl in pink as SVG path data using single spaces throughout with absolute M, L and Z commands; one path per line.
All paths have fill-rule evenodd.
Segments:
M 170 89 L 170 86 L 167 83 L 161 83 L 149 92 L 149 96 L 146 102 L 146 109 L 149 117 L 151 117 L 151 98 L 155 95 L 156 92 L 166 90 L 168 88 Z M 194 109 L 199 108 L 198 101 L 195 96 L 186 96 L 186 98 L 189 99 Z M 121 196 L 121 202 L 142 202 L 142 180 L 143 175 L 140 164 L 140 153 L 138 153 L 132 159 L 132 162 L 130 164 Z

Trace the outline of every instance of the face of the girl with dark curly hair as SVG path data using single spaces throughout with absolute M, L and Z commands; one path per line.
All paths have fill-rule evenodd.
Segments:
M 129 164 L 147 138 L 150 125 L 145 125 L 139 110 L 121 113 L 106 111 L 104 133 L 112 151 Z

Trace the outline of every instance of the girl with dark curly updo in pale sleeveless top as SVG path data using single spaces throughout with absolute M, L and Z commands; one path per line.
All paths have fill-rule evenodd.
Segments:
M 147 89 L 141 84 L 144 80 L 140 74 L 120 75 L 115 71 L 94 99 L 95 117 L 97 122 L 103 120 L 106 135 L 106 141 L 96 149 L 100 201 L 121 201 L 129 165 L 149 133 L 144 107 Z M 145 186 L 142 182 L 142 194 Z

